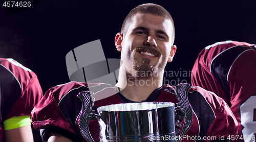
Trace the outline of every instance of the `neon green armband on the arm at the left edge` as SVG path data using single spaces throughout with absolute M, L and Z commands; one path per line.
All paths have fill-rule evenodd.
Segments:
M 31 125 L 30 116 L 12 117 L 4 121 L 4 130 L 15 129 L 27 125 Z

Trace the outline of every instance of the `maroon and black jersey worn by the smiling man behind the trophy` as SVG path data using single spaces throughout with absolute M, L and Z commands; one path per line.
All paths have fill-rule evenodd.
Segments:
M 47 141 L 50 132 L 59 133 L 73 141 L 86 141 L 82 138 L 78 127 L 78 115 L 82 103 L 77 94 L 81 91 L 88 91 L 88 84 L 90 84 L 92 92 L 103 89 L 95 94 L 95 98 L 100 96 L 101 99 L 95 101 L 93 109 L 104 105 L 133 102 L 122 96 L 115 88 L 103 83 L 71 81 L 53 87 L 48 90 L 31 113 L 32 124 L 35 129 L 40 130 L 44 141 Z M 114 95 L 104 97 L 106 94 Z M 190 129 L 185 134 L 185 136 L 190 136 L 190 140 L 184 141 L 195 141 L 196 136 L 197 138 L 200 136 L 201 140 L 210 141 L 237 134 L 237 121 L 223 99 L 200 87 L 191 88 L 188 99 L 193 107 L 194 117 Z M 153 101 L 178 102 L 174 89 L 169 85 L 163 85 L 156 89 L 143 102 Z M 90 120 L 89 130 L 93 139 L 98 141 L 99 124 L 97 120 Z

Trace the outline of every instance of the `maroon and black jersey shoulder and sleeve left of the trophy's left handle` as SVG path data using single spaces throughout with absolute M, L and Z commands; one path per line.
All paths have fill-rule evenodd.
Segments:
M 31 112 L 32 125 L 40 131 L 42 140 L 47 141 L 51 132 L 73 141 L 81 139 L 77 119 L 82 102 L 77 95 L 88 90 L 88 83 L 71 81 L 47 91 Z

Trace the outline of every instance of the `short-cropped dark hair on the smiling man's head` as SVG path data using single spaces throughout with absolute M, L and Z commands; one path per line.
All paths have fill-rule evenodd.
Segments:
M 121 27 L 121 34 L 123 35 L 126 34 L 129 24 L 132 23 L 133 16 L 137 13 L 148 13 L 148 14 L 157 15 L 157 16 L 161 16 L 166 19 L 169 19 L 173 24 L 173 34 L 175 34 L 173 17 L 170 16 L 169 12 L 166 9 L 156 4 L 142 4 L 137 6 L 133 10 L 131 10 L 130 13 L 126 16 L 126 18 L 123 21 L 123 24 Z

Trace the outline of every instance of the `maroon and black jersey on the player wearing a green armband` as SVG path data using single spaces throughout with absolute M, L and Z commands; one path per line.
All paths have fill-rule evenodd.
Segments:
M 42 90 L 37 76 L 13 59 L 0 58 L 0 141 L 3 139 L 3 122 L 19 116 L 30 116 L 41 99 Z

